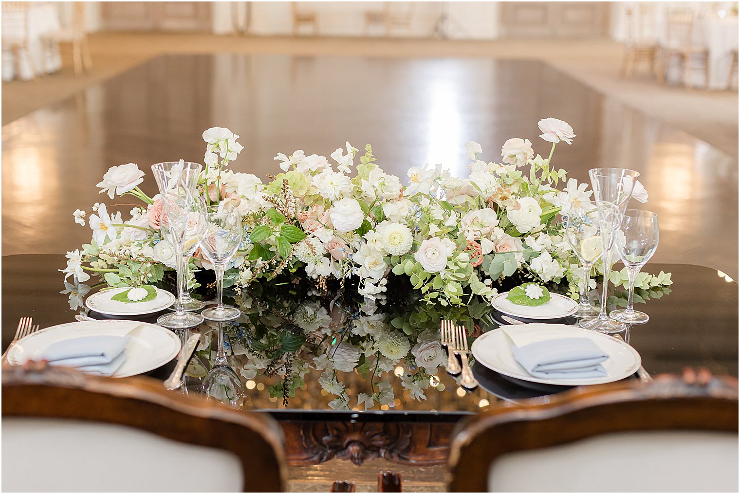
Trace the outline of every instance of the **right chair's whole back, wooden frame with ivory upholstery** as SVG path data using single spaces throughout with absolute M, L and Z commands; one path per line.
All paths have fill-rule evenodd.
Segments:
M 459 428 L 451 492 L 737 492 L 737 381 L 579 388 Z

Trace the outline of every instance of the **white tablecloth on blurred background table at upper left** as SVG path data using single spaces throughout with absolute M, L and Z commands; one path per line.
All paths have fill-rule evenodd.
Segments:
M 19 13 L 3 13 L 2 15 L 2 30 L 4 37 L 7 35 L 13 35 L 13 30 L 19 22 L 19 18 L 22 14 Z M 59 53 L 59 47 L 55 44 L 53 47 L 44 47 L 42 38 L 44 35 L 58 33 L 60 30 L 59 15 L 57 11 L 57 5 L 53 2 L 39 2 L 36 4 L 30 4 L 28 7 L 28 30 L 29 30 L 29 41 L 28 47 L 30 55 L 33 58 L 33 64 L 36 67 L 37 75 L 50 74 L 61 69 L 61 54 Z M 14 78 L 19 78 L 22 81 L 27 81 L 32 78 L 31 67 L 28 63 L 27 57 L 21 55 L 19 58 L 19 74 L 16 74 L 16 61 L 15 57 L 18 53 L 13 53 L 10 50 L 2 51 L 2 80 L 12 81 Z

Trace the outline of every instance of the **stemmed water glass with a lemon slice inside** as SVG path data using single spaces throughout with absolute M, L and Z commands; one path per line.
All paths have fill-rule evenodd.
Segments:
M 602 240 L 599 235 L 599 210 L 590 200 L 574 200 L 568 212 L 565 237 L 581 261 L 583 275 L 581 280 L 581 300 L 573 317 L 582 319 L 599 315 L 599 309 L 588 302 L 588 281 L 591 267 L 602 256 Z

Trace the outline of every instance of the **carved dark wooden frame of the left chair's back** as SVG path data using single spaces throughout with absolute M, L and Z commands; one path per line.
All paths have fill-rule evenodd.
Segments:
M 279 492 L 286 487 L 282 433 L 274 419 L 167 391 L 155 379 L 89 376 L 51 368 L 46 362 L 4 366 L 2 415 L 121 424 L 227 450 L 241 461 L 243 492 Z

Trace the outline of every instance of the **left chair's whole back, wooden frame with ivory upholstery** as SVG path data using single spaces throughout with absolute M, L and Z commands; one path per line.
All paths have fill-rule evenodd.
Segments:
M 276 492 L 280 427 L 167 391 L 33 363 L 2 370 L 2 490 Z

